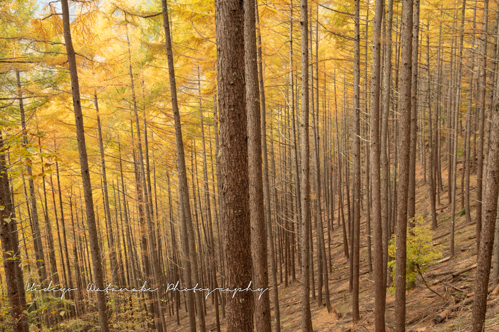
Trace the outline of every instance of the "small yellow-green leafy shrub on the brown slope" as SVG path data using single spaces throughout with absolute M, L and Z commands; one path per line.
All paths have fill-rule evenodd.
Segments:
M 431 265 L 442 257 L 440 248 L 432 245 L 432 230 L 430 226 L 424 226 L 423 217 L 415 217 L 411 221 L 414 222 L 414 228 L 407 228 L 406 285 L 412 284 L 416 280 L 418 275 L 416 267 L 424 274 Z M 396 242 L 397 239 L 394 234 L 388 246 L 388 255 L 391 257 L 396 257 Z M 388 262 L 388 266 L 393 268 L 392 277 L 394 280 L 395 265 L 395 260 Z

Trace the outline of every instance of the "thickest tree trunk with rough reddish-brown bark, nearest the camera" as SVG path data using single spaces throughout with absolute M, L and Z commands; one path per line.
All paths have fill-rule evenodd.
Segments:
M 245 95 L 245 38 L 242 1 L 215 1 L 217 81 L 220 106 L 222 238 L 228 287 L 251 280 L 250 188 Z M 250 10 L 254 13 L 254 8 Z M 253 53 L 254 56 L 254 53 Z M 261 184 L 260 184 L 261 185 Z M 266 269 L 266 267 L 265 267 Z M 253 295 L 226 296 L 227 330 L 253 331 Z

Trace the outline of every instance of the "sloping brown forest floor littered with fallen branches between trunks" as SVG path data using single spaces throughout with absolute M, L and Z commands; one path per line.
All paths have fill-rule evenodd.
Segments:
M 460 166 L 460 165 L 459 165 Z M 424 183 L 423 175 L 417 172 L 416 179 L 416 216 L 423 216 L 426 225 L 431 225 L 431 209 L 430 198 L 428 196 L 428 187 Z M 461 172 L 458 171 L 461 176 Z M 450 215 L 451 209 L 448 200 L 447 192 L 447 170 L 442 170 L 444 192 L 441 192 L 441 205 L 437 206 L 438 229 L 433 232 L 434 245 L 440 246 L 442 249 L 442 258 L 450 256 Z M 470 191 L 474 197 L 476 183 L 475 177 L 472 176 Z M 458 186 L 460 184 L 458 178 Z M 442 297 L 432 293 L 423 283 L 420 276 L 416 279 L 416 287 L 408 290 L 406 293 L 406 331 L 423 332 L 423 331 L 438 331 L 438 332 L 466 332 L 470 331 L 471 314 L 473 303 L 464 304 L 466 299 L 473 299 L 470 294 L 474 291 L 475 270 L 473 265 L 477 259 L 477 242 L 476 242 L 476 227 L 475 227 L 475 205 L 471 203 L 471 219 L 472 224 L 466 225 L 466 217 L 461 216 L 461 194 L 460 187 L 456 194 L 456 232 L 455 232 L 455 258 L 446 262 L 435 264 L 429 267 L 424 277 L 427 284 L 437 293 L 446 297 L 451 301 L 447 301 Z M 438 202 L 437 202 L 438 204 Z M 346 209 L 346 206 L 345 206 Z M 346 213 L 346 212 L 345 212 Z M 345 215 L 346 219 L 346 215 Z M 335 215 L 335 229 L 331 234 L 331 261 L 332 274 L 329 274 L 329 291 L 331 305 L 341 314 L 338 317 L 335 311 L 327 312 L 325 306 L 319 306 L 317 300 L 310 303 L 312 313 L 313 331 L 316 332 L 346 332 L 350 331 L 374 331 L 374 281 L 372 273 L 368 273 L 367 267 L 367 236 L 365 224 L 365 212 L 363 211 L 361 219 L 361 252 L 360 252 L 360 316 L 359 324 L 352 324 L 352 296 L 349 293 L 349 265 L 343 254 L 341 228 L 337 227 L 337 214 Z M 314 232 L 315 233 L 315 232 Z M 325 232 L 327 237 L 327 231 Z M 327 240 L 327 238 L 326 238 Z M 315 238 L 314 238 L 315 246 Z M 314 250 L 314 254 L 316 251 Z M 327 249 L 326 249 L 327 254 Z M 317 260 L 314 259 L 315 279 L 317 279 Z M 468 269 L 467 269 L 468 268 Z M 470 269 L 471 268 L 471 269 Z M 467 269 L 465 273 L 454 277 L 460 270 Z M 453 275 L 454 274 L 454 275 Z M 281 318 L 282 332 L 301 331 L 301 284 L 299 277 L 299 267 L 296 266 L 295 281 L 289 278 L 288 287 L 284 287 L 284 283 L 279 285 L 279 308 Z M 279 278 L 278 281 L 279 282 Z M 317 287 L 317 280 L 315 281 Z M 495 288 L 490 283 L 490 289 Z M 269 290 L 270 292 L 270 290 Z M 495 289 L 489 296 L 487 303 L 487 317 L 485 331 L 499 331 L 499 297 L 497 293 L 499 288 Z M 269 293 L 271 295 L 271 293 Z M 467 297 L 470 295 L 470 297 Z M 272 296 L 270 296 L 272 299 Z M 468 300 L 470 301 L 470 300 Z M 206 317 L 207 331 L 216 331 L 215 312 L 211 305 L 210 299 L 207 300 L 208 315 Z M 271 300 L 271 311 L 273 305 Z M 441 314 L 445 309 L 453 307 L 450 315 L 442 322 L 436 323 L 437 315 Z M 394 308 L 395 294 L 387 292 L 386 299 L 386 325 L 391 330 L 394 324 Z M 445 317 L 446 315 L 444 315 Z M 180 325 L 177 325 L 175 318 L 168 317 L 169 331 L 187 331 L 188 318 L 183 311 L 181 313 Z M 225 321 L 221 318 L 221 321 Z M 273 326 L 272 322 L 272 326 Z M 222 324 L 222 331 L 226 331 L 225 324 Z M 387 331 L 390 331 L 387 329 Z

